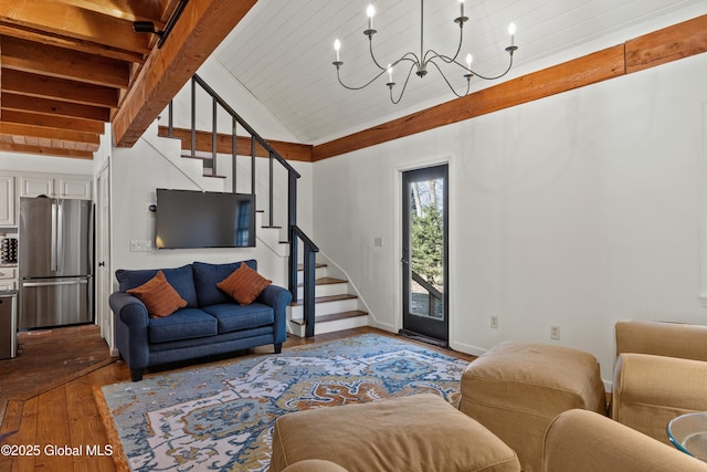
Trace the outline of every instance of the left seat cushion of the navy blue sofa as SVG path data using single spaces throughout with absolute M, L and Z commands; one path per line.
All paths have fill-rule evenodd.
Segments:
M 150 343 L 215 336 L 217 318 L 198 308 L 182 308 L 166 318 L 150 318 L 147 336 Z

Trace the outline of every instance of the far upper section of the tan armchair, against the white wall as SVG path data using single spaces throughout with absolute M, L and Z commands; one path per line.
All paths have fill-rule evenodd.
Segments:
M 622 353 L 653 354 L 707 360 L 707 326 L 659 322 L 619 322 L 616 356 Z

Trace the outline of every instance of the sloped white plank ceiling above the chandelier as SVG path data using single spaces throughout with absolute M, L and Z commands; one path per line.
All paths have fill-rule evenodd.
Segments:
M 214 52 L 217 59 L 303 143 L 319 144 L 449 102 L 452 92 L 434 69 L 413 75 L 398 105 L 389 99 L 388 75 L 351 92 L 336 80 L 334 41 L 341 46 L 342 80 L 360 85 L 377 74 L 370 60 L 366 8 L 369 0 L 260 0 Z M 383 65 L 420 53 L 419 0 L 373 0 L 373 50 Z M 507 64 L 507 27 L 517 24 L 514 69 L 503 80 L 534 72 L 641 34 L 707 13 L 707 0 L 465 0 L 464 42 L 473 67 L 494 75 Z M 458 0 L 424 2 L 425 50 L 453 55 L 458 41 Z M 402 67 L 394 73 L 398 90 Z M 458 91 L 461 70 L 445 67 Z M 495 82 L 473 80 L 473 90 Z

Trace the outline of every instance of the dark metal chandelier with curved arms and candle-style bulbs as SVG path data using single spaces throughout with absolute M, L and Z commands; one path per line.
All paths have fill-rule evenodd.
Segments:
M 447 0 L 447 1 L 451 2 L 452 0 Z M 462 57 L 460 57 L 460 52 L 462 51 L 463 42 L 464 42 L 463 41 L 464 23 L 468 21 L 468 18 L 464 15 L 464 0 L 458 0 L 458 2 L 460 2 L 460 17 L 453 19 L 454 23 L 456 23 L 460 28 L 458 43 L 456 45 L 456 52 L 454 52 L 453 55 L 441 54 L 432 49 L 425 50 L 424 48 L 424 0 L 420 0 L 420 49 L 416 52 L 413 50 L 400 55 L 398 60 L 391 61 L 390 63 L 388 63 L 387 67 L 383 65 L 386 63 L 379 61 L 374 54 L 373 35 L 377 33 L 377 31 L 373 30 L 373 17 L 376 15 L 376 8 L 372 4 L 369 4 L 368 8 L 366 9 L 366 14 L 368 17 L 368 29 L 363 31 L 363 34 L 368 36 L 368 42 L 369 42 L 368 49 L 371 55 L 371 60 L 373 61 L 373 65 L 378 69 L 378 71 L 374 72 L 372 77 L 365 84 L 361 84 L 358 86 L 351 86 L 346 84 L 341 80 L 341 70 L 344 65 L 339 55 L 339 49 L 341 48 L 341 43 L 337 40 L 334 43 L 334 49 L 336 50 L 336 62 L 334 63 L 334 65 L 336 66 L 336 78 L 339 81 L 339 84 L 342 87 L 348 88 L 350 91 L 360 91 L 361 88 L 366 88 L 373 82 L 377 82 L 378 80 L 380 80 L 381 76 L 388 73 L 388 83 L 386 83 L 386 85 L 390 90 L 390 101 L 393 104 L 398 104 L 400 103 L 403 94 L 405 93 L 405 87 L 408 86 L 408 82 L 410 81 L 410 77 L 412 76 L 413 72 L 414 72 L 414 75 L 422 78 L 428 75 L 428 72 L 435 70 L 436 72 L 440 73 L 440 75 L 442 75 L 442 78 L 444 80 L 446 85 L 450 87 L 452 93 L 458 97 L 469 94 L 472 77 L 475 77 L 475 80 L 479 78 L 484 81 L 495 81 L 506 75 L 510 71 L 510 67 L 513 67 L 513 55 L 518 50 L 518 46 L 515 45 L 516 24 L 510 23 L 508 27 L 508 33 L 510 34 L 510 45 L 505 49 L 505 51 L 508 53 L 508 60 L 507 60 L 507 65 L 505 70 L 503 70 L 503 72 L 497 73 L 495 75 L 479 74 L 478 72 L 472 70 L 472 59 L 473 59 L 472 54 L 466 55 L 465 57 L 466 64 L 464 64 L 464 62 L 462 61 Z M 407 64 L 407 67 L 404 67 L 405 64 Z M 402 84 L 402 87 L 397 88 L 395 92 L 393 92 L 393 88 L 395 88 L 395 83 L 393 82 L 393 66 L 403 67 L 402 80 L 400 78 L 400 72 L 398 72 L 399 74 L 398 80 Z M 463 71 L 463 76 L 464 78 L 466 78 L 465 91 L 462 90 L 463 84 L 460 84 L 458 82 L 456 82 L 458 81 L 458 76 L 456 80 L 449 78 L 447 74 L 450 70 L 453 70 L 454 67 L 458 67 Z

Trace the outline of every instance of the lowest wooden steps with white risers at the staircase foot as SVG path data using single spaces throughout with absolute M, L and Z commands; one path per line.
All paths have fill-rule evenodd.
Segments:
M 346 279 L 326 263 L 316 264 L 315 274 L 315 335 L 350 329 L 368 325 L 368 313 L 361 310 L 362 302 Z M 289 332 L 304 337 L 306 324 L 304 321 L 304 268 L 297 271 L 297 303 L 289 307 Z M 335 276 L 336 275 L 336 276 Z

